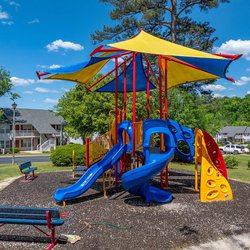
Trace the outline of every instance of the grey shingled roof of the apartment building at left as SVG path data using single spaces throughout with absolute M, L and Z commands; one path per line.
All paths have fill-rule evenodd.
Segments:
M 13 110 L 2 109 L 9 122 L 13 121 Z M 62 116 L 55 112 L 43 109 L 17 109 L 16 124 L 32 124 L 40 134 L 54 134 L 57 131 L 51 125 L 61 125 L 65 123 Z

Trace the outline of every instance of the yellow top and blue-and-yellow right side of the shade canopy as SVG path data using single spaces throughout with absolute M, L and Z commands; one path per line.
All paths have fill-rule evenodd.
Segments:
M 161 56 L 163 72 L 166 72 L 165 67 L 167 67 L 168 88 L 183 83 L 217 78 L 233 81 L 225 73 L 230 63 L 240 57 L 240 55 L 225 57 L 209 54 L 165 41 L 144 31 L 131 39 L 109 44 L 109 46 Z

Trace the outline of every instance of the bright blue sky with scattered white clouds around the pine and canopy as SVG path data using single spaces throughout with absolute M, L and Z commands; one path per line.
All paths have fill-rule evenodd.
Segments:
M 195 11 L 197 20 L 209 21 L 216 29 L 214 51 L 244 54 L 232 63 L 233 84 L 218 80 L 215 96 L 250 93 L 250 1 L 231 0 L 206 13 Z M 13 91 L 21 95 L 19 108 L 53 109 L 58 99 L 75 84 L 38 81 L 41 67 L 75 64 L 89 59 L 96 45 L 90 34 L 112 25 L 110 7 L 98 0 L 0 0 L 0 65 L 11 73 Z M 9 97 L 0 98 L 0 107 L 10 107 Z

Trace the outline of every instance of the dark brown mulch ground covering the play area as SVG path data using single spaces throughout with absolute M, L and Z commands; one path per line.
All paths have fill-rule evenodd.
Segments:
M 81 240 L 55 249 L 176 249 L 250 231 L 250 184 L 230 181 L 233 201 L 201 203 L 193 190 L 193 174 L 171 171 L 169 190 L 174 200 L 148 206 L 122 188 L 117 193 L 109 189 L 109 198 L 104 199 L 99 179 L 64 208 L 55 203 L 53 194 L 75 181 L 71 172 L 38 175 L 33 182 L 18 179 L 2 190 L 0 205 L 59 207 L 67 216 L 64 225 L 57 227 L 57 236 L 78 235 Z M 158 178 L 154 185 L 159 185 Z M 46 249 L 48 245 L 32 226 L 0 227 L 0 249 Z

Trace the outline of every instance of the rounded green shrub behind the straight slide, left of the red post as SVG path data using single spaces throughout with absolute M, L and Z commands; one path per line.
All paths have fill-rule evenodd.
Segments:
M 53 165 L 62 167 L 72 165 L 73 150 L 75 151 L 75 165 L 85 165 L 85 146 L 80 144 L 57 146 L 50 155 Z

